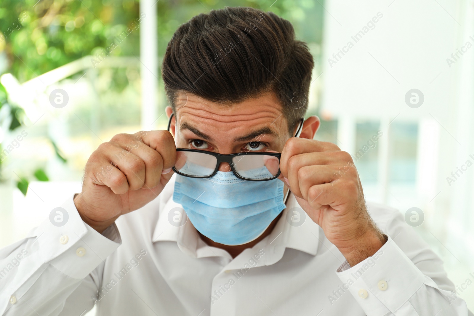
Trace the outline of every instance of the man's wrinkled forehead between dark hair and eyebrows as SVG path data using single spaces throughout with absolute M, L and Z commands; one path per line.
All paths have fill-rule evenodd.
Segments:
M 240 103 L 219 104 L 191 93 L 180 92 L 174 99 L 179 125 L 186 122 L 219 132 L 245 134 L 258 128 L 269 127 L 275 133 L 286 131 L 287 121 L 275 94 L 268 92 L 260 97 Z

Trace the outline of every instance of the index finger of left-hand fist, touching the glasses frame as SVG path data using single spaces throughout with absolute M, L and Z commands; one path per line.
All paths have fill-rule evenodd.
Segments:
M 163 169 L 171 170 L 176 162 L 176 144 L 173 135 L 165 130 L 140 132 L 141 141 L 155 149 L 163 159 Z

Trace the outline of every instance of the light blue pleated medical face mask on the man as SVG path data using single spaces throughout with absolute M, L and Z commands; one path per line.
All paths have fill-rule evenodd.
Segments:
M 284 198 L 278 179 L 246 181 L 220 171 L 205 179 L 177 174 L 173 193 L 173 201 L 182 205 L 202 235 L 227 245 L 246 244 L 262 235 L 286 207 Z

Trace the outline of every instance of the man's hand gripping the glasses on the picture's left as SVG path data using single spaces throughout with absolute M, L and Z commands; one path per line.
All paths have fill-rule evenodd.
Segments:
M 118 134 L 100 144 L 74 197 L 82 220 L 102 233 L 120 215 L 145 206 L 168 183 L 175 161 L 176 145 L 165 130 Z

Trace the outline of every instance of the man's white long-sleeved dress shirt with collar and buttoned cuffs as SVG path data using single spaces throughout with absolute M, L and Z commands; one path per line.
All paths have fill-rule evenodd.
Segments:
M 350 267 L 307 215 L 291 220 L 290 194 L 272 233 L 232 259 L 185 217 L 175 223 L 174 178 L 102 234 L 71 197 L 64 226 L 46 219 L 1 249 L 1 315 L 82 316 L 94 304 L 100 316 L 468 315 L 441 259 L 396 209 L 368 203 L 389 239 Z

